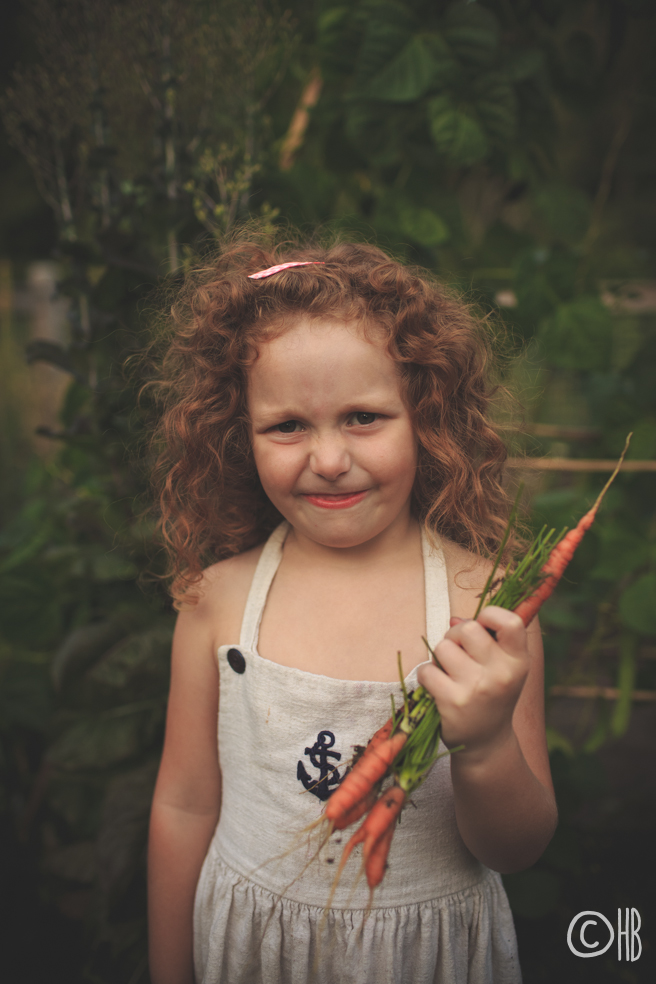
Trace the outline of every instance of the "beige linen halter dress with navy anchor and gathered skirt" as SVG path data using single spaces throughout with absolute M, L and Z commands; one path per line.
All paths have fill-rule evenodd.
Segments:
M 508 900 L 499 875 L 458 833 L 448 756 L 403 812 L 371 911 L 356 848 L 324 916 L 348 832 L 335 833 L 314 860 L 316 842 L 298 835 L 401 690 L 258 654 L 287 529 L 262 551 L 239 644 L 218 650 L 223 800 L 196 890 L 197 984 L 519 984 Z M 425 538 L 423 555 L 426 634 L 435 645 L 449 626 L 446 572 Z M 416 668 L 406 685 L 417 685 Z

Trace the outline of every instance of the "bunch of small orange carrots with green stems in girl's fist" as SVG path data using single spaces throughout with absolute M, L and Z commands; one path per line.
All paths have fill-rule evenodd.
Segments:
M 569 532 L 565 528 L 558 536 L 555 535 L 555 530 L 547 531 L 544 527 L 525 557 L 512 569 L 506 570 L 499 583 L 498 580 L 495 581 L 495 576 L 515 519 L 519 500 L 519 495 L 517 496 L 474 617 L 478 617 L 489 595 L 488 604 L 516 612 L 526 626 L 532 622 L 563 576 L 586 531 L 592 526 L 601 501 L 620 470 L 630 438 L 629 434 L 615 471 L 592 508 L 579 520 L 576 527 Z M 424 642 L 437 662 L 428 642 L 425 639 Z M 440 715 L 435 701 L 421 686 L 408 694 L 400 671 L 400 656 L 399 653 L 403 704 L 396 710 L 392 699 L 392 716 L 378 729 L 332 794 L 322 818 L 322 822 L 328 821 L 327 839 L 334 830 L 344 830 L 367 815 L 344 847 L 333 891 L 358 844 L 363 844 L 363 866 L 370 890 L 373 892 L 380 884 L 385 875 L 396 820 L 400 819 L 408 798 L 441 757 L 438 754 Z M 454 748 L 443 754 L 449 755 L 459 750 Z M 383 790 L 383 784 L 390 777 L 392 784 Z

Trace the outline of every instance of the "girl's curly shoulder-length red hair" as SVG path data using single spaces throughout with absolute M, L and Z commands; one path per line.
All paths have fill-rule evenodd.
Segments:
M 249 279 L 294 260 L 320 265 Z M 384 333 L 417 435 L 414 514 L 429 535 L 484 556 L 498 549 L 509 502 L 506 449 L 488 419 L 489 333 L 430 274 L 366 244 L 236 242 L 188 273 L 171 311 L 154 481 L 174 594 L 282 519 L 251 454 L 246 388 L 258 343 L 299 315 Z

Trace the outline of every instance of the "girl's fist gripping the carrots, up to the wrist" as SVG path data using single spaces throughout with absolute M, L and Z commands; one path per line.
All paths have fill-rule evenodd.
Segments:
M 486 628 L 494 630 L 496 641 Z M 435 655 L 442 669 L 423 665 L 418 679 L 442 716 L 444 744 L 464 745 L 475 755 L 510 738 L 530 663 L 521 618 L 489 605 L 476 621 L 452 619 Z

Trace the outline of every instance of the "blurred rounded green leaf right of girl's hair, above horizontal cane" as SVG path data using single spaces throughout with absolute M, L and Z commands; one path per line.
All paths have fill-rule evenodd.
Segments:
M 560 304 L 540 329 L 540 341 L 552 365 L 561 369 L 603 370 L 610 365 L 613 323 L 595 296 Z

